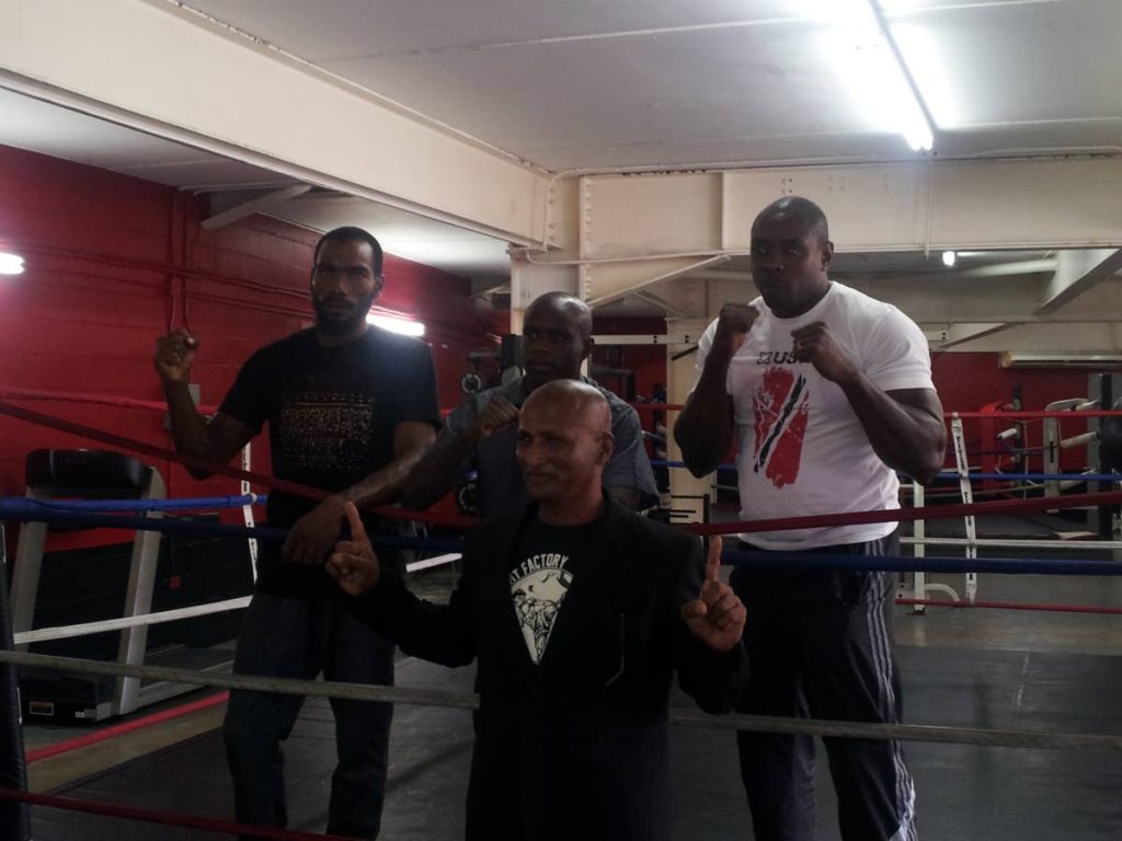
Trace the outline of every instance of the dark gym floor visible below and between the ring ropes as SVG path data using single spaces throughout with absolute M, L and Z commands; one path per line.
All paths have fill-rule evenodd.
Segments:
M 935 553 L 931 553 L 935 554 Z M 939 553 L 951 554 L 951 553 Z M 1010 554 L 1006 552 L 991 554 Z M 417 588 L 445 594 L 454 571 L 422 574 Z M 962 592 L 962 576 L 931 576 Z M 983 575 L 980 599 L 1122 606 L 1114 577 Z M 1122 736 L 1122 617 L 1087 613 L 898 608 L 894 621 L 907 721 L 967 728 Z M 470 691 L 472 669 L 410 657 L 401 685 Z M 213 693 L 212 693 L 213 694 Z M 206 697 L 192 693 L 176 701 Z M 679 696 L 675 703 L 689 704 Z M 30 767 L 33 791 L 208 816 L 232 814 L 219 727 L 224 704 Z M 149 708 L 137 718 L 151 714 Z M 120 722 L 107 722 L 109 726 Z M 26 727 L 28 749 L 70 739 L 73 728 Z M 398 706 L 390 748 L 385 839 L 458 839 L 471 750 L 467 712 Z M 674 728 L 677 839 L 751 839 L 732 736 Z M 1122 837 L 1122 755 L 910 743 L 925 841 L 1020 839 L 1113 841 Z M 325 701 L 305 703 L 285 747 L 292 829 L 322 832 L 334 736 Z M 838 838 L 825 757 L 819 763 L 818 838 Z M 201 831 L 35 808 L 38 841 L 214 839 Z

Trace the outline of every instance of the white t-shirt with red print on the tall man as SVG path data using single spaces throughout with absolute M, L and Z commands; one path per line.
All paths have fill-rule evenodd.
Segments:
M 885 391 L 931 388 L 923 333 L 891 304 L 831 283 L 826 296 L 795 318 L 760 311 L 728 367 L 737 432 L 741 517 L 801 517 L 900 507 L 900 482 L 873 452 L 845 394 L 809 362 L 795 362 L 791 331 L 824 322 L 834 340 Z M 698 342 L 698 376 L 717 322 Z M 875 540 L 894 523 L 744 534 L 767 549 L 802 549 Z

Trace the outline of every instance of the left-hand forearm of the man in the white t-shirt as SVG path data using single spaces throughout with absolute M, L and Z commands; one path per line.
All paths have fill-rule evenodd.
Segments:
M 674 424 L 674 441 L 696 477 L 716 470 L 733 443 L 733 398 L 725 385 L 727 376 L 728 361 L 711 354 Z

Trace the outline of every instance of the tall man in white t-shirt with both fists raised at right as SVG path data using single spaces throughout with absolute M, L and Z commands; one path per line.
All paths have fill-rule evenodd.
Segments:
M 698 381 L 674 426 L 695 475 L 736 432 L 745 520 L 899 507 L 895 471 L 929 482 L 942 465 L 942 407 L 923 334 L 895 307 L 827 276 L 826 216 L 800 197 L 752 225 L 761 297 L 726 304 L 698 345 Z M 895 524 L 742 535 L 749 549 L 895 554 Z M 741 712 L 895 722 L 891 576 L 734 570 L 752 664 Z M 813 838 L 810 737 L 738 733 L 757 841 Z M 914 787 L 893 741 L 827 739 L 846 841 L 916 837 Z

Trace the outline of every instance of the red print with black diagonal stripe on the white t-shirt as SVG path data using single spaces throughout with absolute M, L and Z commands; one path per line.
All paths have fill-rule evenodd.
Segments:
M 752 407 L 756 438 L 752 469 L 763 470 L 776 488 L 791 484 L 799 478 L 807 434 L 807 378 L 790 368 L 769 368 L 752 396 Z

